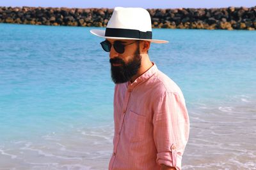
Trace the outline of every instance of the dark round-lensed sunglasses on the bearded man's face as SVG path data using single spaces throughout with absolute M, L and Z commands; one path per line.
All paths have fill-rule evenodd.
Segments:
M 134 41 L 133 43 L 136 43 L 137 41 Z M 130 44 L 127 44 L 127 45 L 132 45 L 133 43 L 130 43 Z M 110 52 L 112 45 L 108 40 L 102 41 L 100 43 L 100 45 L 102 46 L 102 48 L 105 52 Z M 115 41 L 115 43 L 113 44 L 113 47 L 116 50 L 116 52 L 124 53 L 124 47 L 127 46 L 127 45 L 124 45 L 121 41 Z

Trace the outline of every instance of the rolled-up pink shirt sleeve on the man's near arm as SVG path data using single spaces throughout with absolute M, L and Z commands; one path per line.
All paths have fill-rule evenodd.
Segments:
M 153 125 L 157 164 L 180 170 L 189 137 L 189 117 L 182 94 L 166 92 L 157 99 Z

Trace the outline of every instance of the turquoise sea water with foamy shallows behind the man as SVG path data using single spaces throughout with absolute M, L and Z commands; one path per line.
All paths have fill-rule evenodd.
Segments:
M 0 169 L 108 167 L 114 84 L 90 29 L 0 24 Z M 182 89 L 191 117 L 184 169 L 256 166 L 256 32 L 154 29 L 153 37 L 170 41 L 152 44 L 150 59 Z M 207 159 L 211 146 L 222 163 Z M 241 146 L 248 157 L 237 156 Z

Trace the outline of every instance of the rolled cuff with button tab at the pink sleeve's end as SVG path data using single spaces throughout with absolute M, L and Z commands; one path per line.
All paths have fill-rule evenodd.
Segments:
M 182 157 L 177 152 L 161 152 L 157 153 L 157 164 L 164 164 L 166 166 L 175 167 L 177 170 L 181 170 Z

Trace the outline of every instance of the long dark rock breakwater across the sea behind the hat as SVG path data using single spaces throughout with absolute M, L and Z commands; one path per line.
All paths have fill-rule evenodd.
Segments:
M 148 9 L 152 27 L 170 29 L 256 29 L 252 8 Z M 33 25 L 106 27 L 113 9 L 0 7 L 0 22 Z

